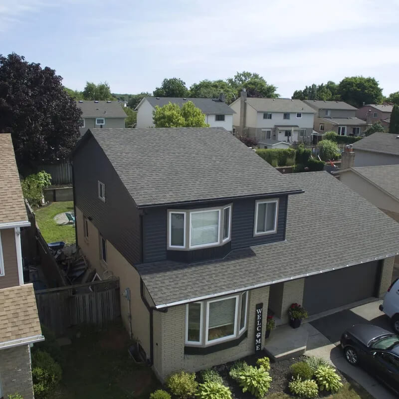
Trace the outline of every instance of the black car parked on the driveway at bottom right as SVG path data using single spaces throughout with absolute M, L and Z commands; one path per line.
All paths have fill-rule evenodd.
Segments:
M 360 365 L 399 393 L 399 336 L 371 324 L 346 330 L 341 347 L 351 365 Z

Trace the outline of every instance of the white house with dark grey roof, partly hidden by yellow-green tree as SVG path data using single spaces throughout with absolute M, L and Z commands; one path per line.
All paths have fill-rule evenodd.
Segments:
M 189 98 L 189 97 L 144 97 L 135 108 L 137 111 L 137 128 L 154 127 L 153 112 L 155 107 L 166 104 L 179 104 L 180 107 L 192 101 L 204 114 L 205 123 L 211 128 L 220 127 L 232 132 L 234 111 L 225 103 L 225 97 L 219 98 Z

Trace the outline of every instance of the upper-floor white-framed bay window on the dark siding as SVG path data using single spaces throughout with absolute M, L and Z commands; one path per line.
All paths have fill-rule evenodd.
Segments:
M 231 239 L 232 205 L 168 210 L 168 249 L 200 249 Z

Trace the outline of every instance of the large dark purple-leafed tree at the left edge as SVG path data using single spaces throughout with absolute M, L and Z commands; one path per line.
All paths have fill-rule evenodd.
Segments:
M 68 156 L 81 111 L 51 68 L 0 54 L 0 132 L 10 132 L 20 171 Z

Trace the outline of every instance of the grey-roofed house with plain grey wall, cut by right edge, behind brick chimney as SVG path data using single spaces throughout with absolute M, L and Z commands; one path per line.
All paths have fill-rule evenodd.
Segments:
M 399 136 L 377 132 L 354 143 L 355 166 L 399 164 Z

